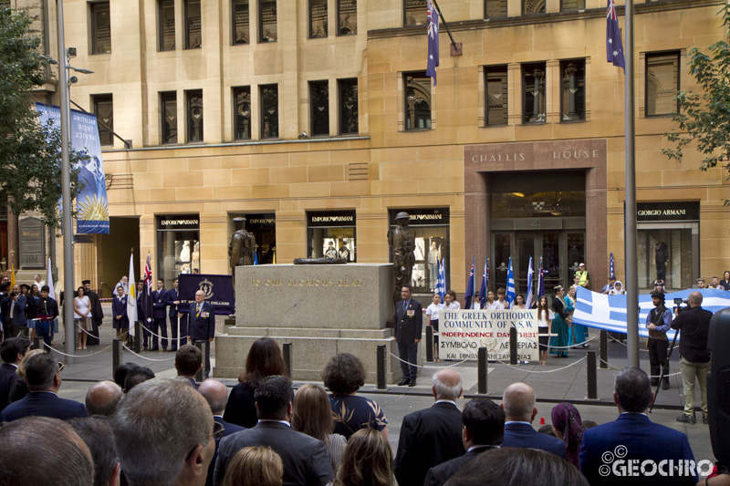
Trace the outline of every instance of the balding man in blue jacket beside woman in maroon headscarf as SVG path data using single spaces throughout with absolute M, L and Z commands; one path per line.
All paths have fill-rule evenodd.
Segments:
M 535 390 L 525 383 L 513 383 L 506 388 L 500 407 L 505 410 L 505 439 L 502 447 L 522 447 L 547 450 L 565 458 L 562 440 L 541 434 L 532 428 L 537 415 Z

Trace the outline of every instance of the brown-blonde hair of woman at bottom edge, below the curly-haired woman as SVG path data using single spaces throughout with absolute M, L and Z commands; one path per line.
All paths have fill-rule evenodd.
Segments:
M 393 453 L 388 439 L 374 429 L 360 429 L 348 440 L 334 486 L 392 486 Z

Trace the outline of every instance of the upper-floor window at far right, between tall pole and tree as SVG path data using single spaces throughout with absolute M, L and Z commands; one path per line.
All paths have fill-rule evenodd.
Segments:
M 679 53 L 646 55 L 646 116 L 673 115 L 679 111 Z

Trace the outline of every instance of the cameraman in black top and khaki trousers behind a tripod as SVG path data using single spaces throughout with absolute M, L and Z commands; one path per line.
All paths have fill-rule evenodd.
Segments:
M 707 373 L 710 371 L 710 351 L 707 350 L 707 333 L 713 313 L 702 308 L 702 294 L 693 292 L 688 307 L 672 322 L 672 328 L 682 332 L 679 341 L 679 363 L 682 369 L 684 413 L 678 422 L 694 424 L 694 378 L 700 385 L 702 423 L 707 423 Z M 677 309 L 679 312 L 679 309 Z

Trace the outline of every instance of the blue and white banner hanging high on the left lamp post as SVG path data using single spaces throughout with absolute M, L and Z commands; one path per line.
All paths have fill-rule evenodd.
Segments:
M 36 103 L 41 124 L 53 120 L 61 126 L 61 112 L 58 107 Z M 76 233 L 109 234 L 109 202 L 107 202 L 107 181 L 104 177 L 104 162 L 101 160 L 99 126 L 97 117 L 91 113 L 71 110 L 71 150 L 86 151 L 89 160 L 79 163 L 78 180 L 84 188 L 76 197 Z

